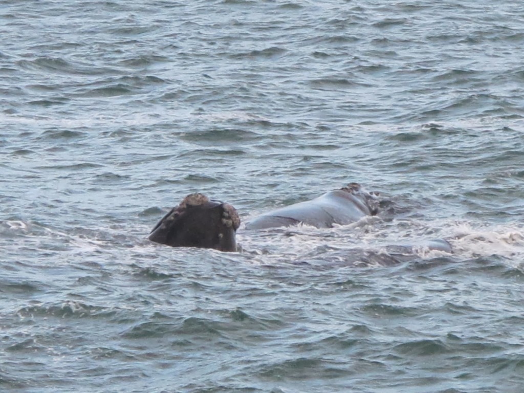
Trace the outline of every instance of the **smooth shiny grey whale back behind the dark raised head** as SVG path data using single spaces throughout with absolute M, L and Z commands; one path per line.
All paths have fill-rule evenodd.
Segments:
M 377 195 L 365 191 L 357 183 L 350 183 L 347 187 L 326 192 L 311 201 L 295 203 L 259 215 L 246 223 L 246 229 L 261 230 L 299 223 L 330 228 L 333 224 L 347 225 L 377 212 Z

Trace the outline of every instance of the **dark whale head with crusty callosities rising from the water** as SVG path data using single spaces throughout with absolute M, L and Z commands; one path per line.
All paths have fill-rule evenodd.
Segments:
M 235 233 L 239 225 L 233 206 L 196 193 L 186 196 L 163 216 L 149 234 L 149 240 L 172 247 L 236 251 Z

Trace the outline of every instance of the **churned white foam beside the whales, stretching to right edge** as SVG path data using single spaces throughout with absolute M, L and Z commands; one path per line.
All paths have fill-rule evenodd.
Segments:
M 394 220 L 385 223 L 378 217 L 364 217 L 356 223 L 333 228 L 298 225 L 258 232 L 241 231 L 237 238 L 243 249 L 272 254 L 276 259 L 355 248 L 388 253 L 389 246 L 406 246 L 410 253 L 422 259 L 447 256 L 464 260 L 490 255 L 509 259 L 524 256 L 524 228 L 521 226 L 481 225 L 454 220 Z M 429 241 L 433 239 L 449 242 L 453 255 L 430 246 Z

